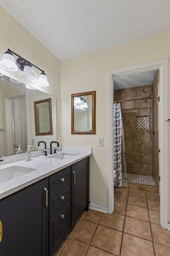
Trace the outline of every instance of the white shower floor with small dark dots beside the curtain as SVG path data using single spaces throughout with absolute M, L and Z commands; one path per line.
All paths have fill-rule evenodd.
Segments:
M 131 174 L 131 173 L 127 173 L 127 174 L 122 173 L 122 180 L 126 180 L 126 175 L 127 175 L 128 182 L 156 186 L 154 178 L 152 176 Z

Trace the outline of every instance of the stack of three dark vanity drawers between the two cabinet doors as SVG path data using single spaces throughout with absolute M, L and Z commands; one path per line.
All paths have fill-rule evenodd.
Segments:
M 49 256 L 70 230 L 71 166 L 49 177 Z

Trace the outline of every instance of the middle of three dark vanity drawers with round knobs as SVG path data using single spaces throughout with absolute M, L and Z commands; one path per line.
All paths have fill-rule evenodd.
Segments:
M 64 186 L 49 199 L 49 217 L 53 215 L 67 200 L 70 199 L 71 183 Z

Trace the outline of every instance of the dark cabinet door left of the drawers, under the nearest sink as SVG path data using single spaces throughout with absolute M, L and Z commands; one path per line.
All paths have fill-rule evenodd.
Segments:
M 1 256 L 46 256 L 47 179 L 0 201 Z

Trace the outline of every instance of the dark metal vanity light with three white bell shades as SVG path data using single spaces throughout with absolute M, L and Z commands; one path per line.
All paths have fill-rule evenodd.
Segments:
M 39 79 L 37 81 L 38 85 L 40 86 L 49 86 L 49 83 L 47 81 L 47 77 L 44 73 L 44 70 L 41 70 L 39 67 L 35 66 L 34 64 L 30 63 L 28 60 L 22 58 L 15 52 L 8 49 L 5 54 L 3 55 L 2 61 L 0 62 L 0 67 L 9 71 L 17 71 L 18 67 L 15 64 L 15 58 L 14 55 L 18 56 L 16 60 L 16 64 L 19 67 L 20 70 L 23 71 L 22 77 L 26 78 L 28 80 L 35 80 L 36 76 L 34 75 L 34 71 L 32 66 L 39 69 L 41 71 L 41 74 L 39 76 Z

